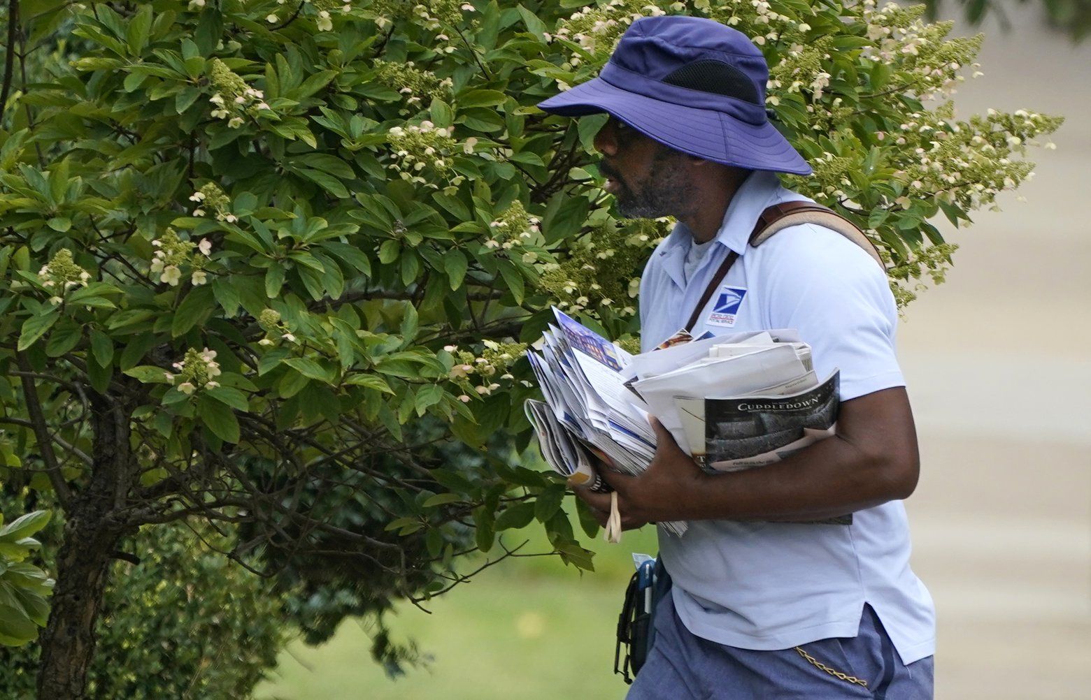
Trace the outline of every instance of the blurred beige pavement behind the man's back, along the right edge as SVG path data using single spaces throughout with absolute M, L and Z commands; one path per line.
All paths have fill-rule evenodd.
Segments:
M 948 282 L 910 305 L 899 350 L 923 471 L 913 565 L 936 600 L 939 700 L 1091 697 L 1091 41 L 1039 3 L 985 27 L 961 116 L 1060 113 L 1034 180 L 950 237 Z M 962 28 L 956 33 L 968 34 Z M 946 234 L 946 232 L 945 232 Z

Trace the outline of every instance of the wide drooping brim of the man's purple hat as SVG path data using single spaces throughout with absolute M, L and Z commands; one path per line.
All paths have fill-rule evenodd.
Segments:
M 751 124 L 614 87 L 601 77 L 576 85 L 538 107 L 564 117 L 607 112 L 649 138 L 706 160 L 747 170 L 811 174 L 811 166 L 769 122 Z

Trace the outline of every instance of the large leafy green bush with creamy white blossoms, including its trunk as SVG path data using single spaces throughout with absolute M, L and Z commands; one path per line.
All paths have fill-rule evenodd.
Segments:
M 901 303 L 950 262 L 932 221 L 1017 188 L 1028 146 L 1059 123 L 954 119 L 945 100 L 980 38 L 871 0 L 3 16 L 8 56 L 26 57 L 0 99 L 0 401 L 21 460 L 3 469 L 56 492 L 68 522 L 49 697 L 79 687 L 95 571 L 142 524 L 243 523 L 233 553 L 276 570 L 351 558 L 369 582 L 356 612 L 445 590 L 460 555 L 503 553 L 497 533 L 535 519 L 590 566 L 563 484 L 515 456 L 533 393 L 524 343 L 552 304 L 632 342 L 638 275 L 670 222 L 615 216 L 591 165 L 602 117 L 535 105 L 658 13 L 754 37 L 768 107 L 815 167 L 788 183 L 868 232 Z M 445 429 L 425 439 L 425 423 Z M 449 459 L 452 436 L 488 450 Z

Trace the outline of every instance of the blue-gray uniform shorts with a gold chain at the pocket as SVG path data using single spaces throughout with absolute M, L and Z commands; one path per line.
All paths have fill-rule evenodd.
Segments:
M 908 666 L 870 605 L 856 637 L 753 651 L 696 637 L 671 595 L 656 610 L 656 638 L 627 700 L 932 700 L 933 657 Z

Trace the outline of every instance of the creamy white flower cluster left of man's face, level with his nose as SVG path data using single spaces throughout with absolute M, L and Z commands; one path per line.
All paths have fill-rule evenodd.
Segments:
M 394 126 L 386 132 L 392 152 L 387 166 L 408 182 L 439 190 L 439 181 L 444 183 L 444 192 L 455 192 L 466 178 L 455 174 L 454 131 L 454 126 L 443 129 L 429 120 Z

